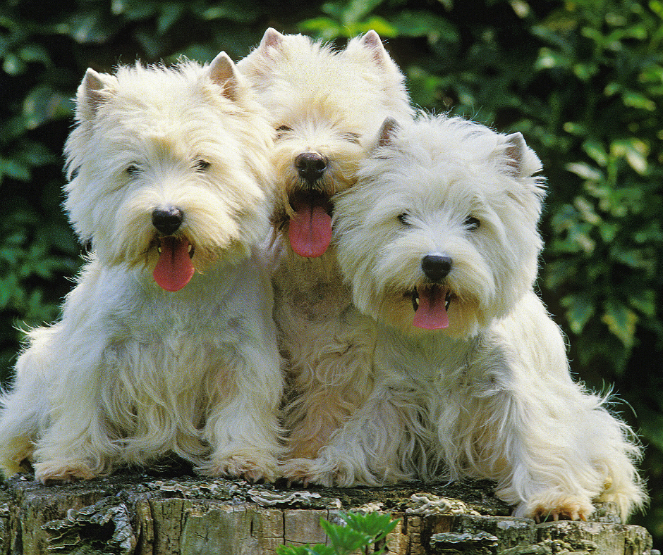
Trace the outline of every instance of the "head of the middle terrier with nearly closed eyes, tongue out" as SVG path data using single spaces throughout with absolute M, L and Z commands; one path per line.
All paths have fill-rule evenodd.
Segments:
M 238 69 L 276 130 L 272 223 L 296 254 L 321 256 L 331 240 L 331 196 L 355 182 L 365 138 L 389 114 L 410 116 L 403 75 L 375 32 L 333 51 L 269 29 Z

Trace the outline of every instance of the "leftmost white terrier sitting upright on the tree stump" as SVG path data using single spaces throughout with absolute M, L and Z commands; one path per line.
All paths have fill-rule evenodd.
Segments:
M 175 453 L 276 477 L 281 359 L 269 275 L 273 131 L 225 53 L 93 70 L 66 209 L 93 253 L 61 321 L 30 332 L 1 399 L 5 475 L 87 479 Z

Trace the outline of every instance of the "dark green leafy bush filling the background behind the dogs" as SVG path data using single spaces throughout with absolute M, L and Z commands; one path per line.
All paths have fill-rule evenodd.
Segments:
M 663 537 L 661 0 L 10 0 L 0 7 L 0 370 L 14 326 L 52 320 L 80 247 L 59 209 L 61 148 L 85 68 L 220 50 L 245 55 L 271 25 L 343 42 L 375 29 L 413 101 L 520 130 L 548 177 L 539 287 L 572 368 L 614 389 L 647 444 Z M 636 416 L 637 415 L 637 416 Z

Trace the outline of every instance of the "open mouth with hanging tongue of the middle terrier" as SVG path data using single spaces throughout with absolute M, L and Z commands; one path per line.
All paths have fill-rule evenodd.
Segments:
M 290 196 L 294 214 L 290 218 L 288 238 L 299 256 L 322 256 L 331 242 L 331 213 L 333 205 L 320 192 L 298 191 Z

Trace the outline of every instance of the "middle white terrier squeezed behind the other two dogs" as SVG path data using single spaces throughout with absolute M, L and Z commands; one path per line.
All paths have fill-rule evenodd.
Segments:
M 403 75 L 374 31 L 334 51 L 268 29 L 237 67 L 276 129 L 274 316 L 290 365 L 286 428 L 291 456 L 312 459 L 365 400 L 375 338 L 329 244 L 330 198 L 353 185 L 384 118 L 412 111 Z

